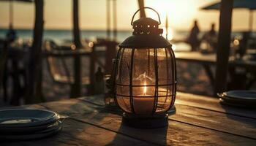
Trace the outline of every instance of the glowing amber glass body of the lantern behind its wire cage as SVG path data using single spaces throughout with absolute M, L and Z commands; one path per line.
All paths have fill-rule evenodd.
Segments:
M 173 58 L 170 48 L 120 48 L 116 99 L 121 109 L 140 115 L 166 112 L 176 90 Z

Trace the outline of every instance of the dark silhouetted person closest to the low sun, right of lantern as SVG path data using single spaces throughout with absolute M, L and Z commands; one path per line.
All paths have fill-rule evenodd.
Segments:
M 195 20 L 194 26 L 192 27 L 188 38 L 188 43 L 191 45 L 192 51 L 196 51 L 197 47 L 200 45 L 200 41 L 198 39 L 199 32 L 200 30 L 197 26 L 197 20 Z

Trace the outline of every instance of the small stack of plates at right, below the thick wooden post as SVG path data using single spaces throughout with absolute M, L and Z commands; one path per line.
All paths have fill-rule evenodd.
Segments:
M 256 108 L 256 91 L 227 91 L 218 96 L 221 104 Z

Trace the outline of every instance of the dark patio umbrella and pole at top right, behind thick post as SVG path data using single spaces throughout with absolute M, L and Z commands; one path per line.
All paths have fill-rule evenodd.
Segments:
M 202 7 L 201 9 L 219 9 L 220 2 L 210 4 L 206 7 Z M 249 9 L 249 31 L 252 31 L 252 23 L 253 23 L 253 10 L 256 9 L 256 1 L 255 0 L 234 0 L 233 9 Z

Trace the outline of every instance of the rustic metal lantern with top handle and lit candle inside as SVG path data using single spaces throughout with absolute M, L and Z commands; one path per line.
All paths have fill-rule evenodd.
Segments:
M 150 7 L 143 9 L 156 10 Z M 138 9 L 139 12 L 141 9 Z M 137 128 L 167 126 L 167 111 L 176 97 L 176 61 L 161 23 L 151 18 L 133 22 L 132 36 L 119 45 L 114 74 L 114 96 L 124 111 L 123 123 Z

